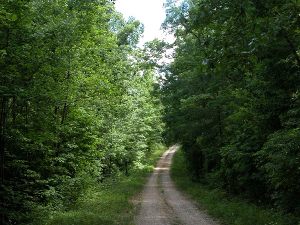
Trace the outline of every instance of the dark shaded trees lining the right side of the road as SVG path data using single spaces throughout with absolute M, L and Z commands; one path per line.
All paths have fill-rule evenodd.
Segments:
M 194 178 L 300 216 L 300 3 L 168 0 L 164 138 Z

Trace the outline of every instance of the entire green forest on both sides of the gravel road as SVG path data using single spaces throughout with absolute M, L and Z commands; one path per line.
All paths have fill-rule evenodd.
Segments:
M 300 2 L 167 0 L 175 40 L 143 48 L 113 3 L 1 0 L 0 223 L 64 210 L 160 143 L 229 200 L 300 217 Z

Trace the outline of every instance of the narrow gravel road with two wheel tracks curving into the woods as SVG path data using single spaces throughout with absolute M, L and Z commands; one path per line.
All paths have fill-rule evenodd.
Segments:
M 144 187 L 136 224 L 217 225 L 176 189 L 169 170 L 177 148 L 177 145 L 173 145 L 158 160 Z

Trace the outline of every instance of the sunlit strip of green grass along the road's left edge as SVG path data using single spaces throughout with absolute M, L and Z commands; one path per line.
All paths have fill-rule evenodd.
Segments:
M 122 174 L 118 179 L 107 179 L 105 183 L 88 189 L 78 200 L 74 209 L 55 212 L 42 224 L 134 224 L 133 219 L 140 205 L 139 194 L 146 182 L 146 177 L 165 150 L 163 146 L 160 146 L 148 155 L 145 165 L 132 170 L 129 175 Z

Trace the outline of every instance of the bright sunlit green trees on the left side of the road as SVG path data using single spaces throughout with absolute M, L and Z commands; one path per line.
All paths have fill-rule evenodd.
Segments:
M 142 31 L 113 0 L 1 1 L 0 223 L 68 207 L 159 142 Z

